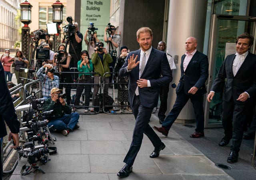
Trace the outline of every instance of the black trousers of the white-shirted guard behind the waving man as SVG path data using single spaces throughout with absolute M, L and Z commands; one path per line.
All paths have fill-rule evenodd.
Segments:
M 159 94 L 160 107 L 158 110 L 158 118 L 159 119 L 165 119 L 165 113 L 167 110 L 167 97 L 168 97 L 168 92 L 169 92 L 169 85 L 170 85 L 170 83 L 160 87 L 160 94 Z

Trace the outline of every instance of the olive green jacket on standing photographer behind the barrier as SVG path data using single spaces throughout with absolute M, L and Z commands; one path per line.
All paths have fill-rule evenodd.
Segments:
M 103 65 L 100 61 L 100 57 L 98 53 L 92 54 L 92 63 L 94 64 L 94 72 L 99 73 L 100 76 L 103 76 L 104 73 L 110 73 L 109 63 L 112 63 L 113 59 L 109 53 L 103 55 Z M 98 74 L 94 74 L 94 76 L 99 76 Z M 105 77 L 110 77 L 111 74 L 106 74 Z

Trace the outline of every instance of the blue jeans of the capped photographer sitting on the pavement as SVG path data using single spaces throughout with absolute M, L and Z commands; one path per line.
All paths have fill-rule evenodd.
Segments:
M 49 121 L 48 126 L 54 126 L 54 129 L 57 131 L 62 131 L 64 129 L 68 129 L 69 131 L 73 131 L 76 123 L 78 122 L 79 114 L 71 113 L 70 115 L 63 115 L 58 119 L 54 119 Z

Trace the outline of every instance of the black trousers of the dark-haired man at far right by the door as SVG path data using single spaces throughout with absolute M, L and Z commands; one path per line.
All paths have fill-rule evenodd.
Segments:
M 249 104 L 236 104 L 233 98 L 229 102 L 223 101 L 222 125 L 224 139 L 229 141 L 232 138 L 230 150 L 240 150 L 249 107 Z

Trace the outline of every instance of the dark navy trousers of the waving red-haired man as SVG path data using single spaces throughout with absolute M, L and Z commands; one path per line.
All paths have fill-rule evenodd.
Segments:
M 132 112 L 136 119 L 130 149 L 124 158 L 124 163 L 132 166 L 142 144 L 143 133 L 148 136 L 154 147 L 160 146 L 162 141 L 148 124 L 153 108 L 145 107 L 140 102 L 140 97 L 134 96 Z

